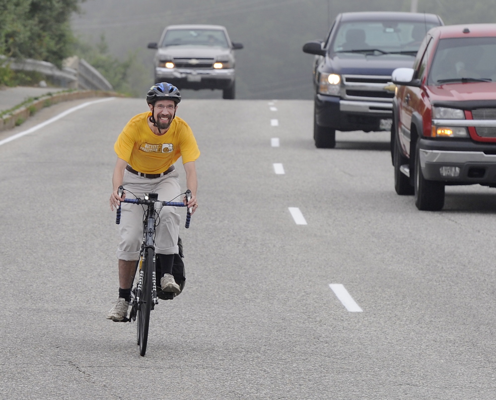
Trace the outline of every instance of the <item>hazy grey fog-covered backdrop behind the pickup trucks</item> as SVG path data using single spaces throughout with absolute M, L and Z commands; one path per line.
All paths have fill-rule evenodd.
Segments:
M 419 12 L 440 15 L 445 24 L 495 22 L 493 0 L 418 0 Z M 144 93 L 153 82 L 154 50 L 171 24 L 224 25 L 235 51 L 237 99 L 312 99 L 313 56 L 301 51 L 323 39 L 345 11 L 410 11 L 411 0 L 86 0 L 72 19 L 74 34 L 90 43 L 102 35 L 119 59 L 135 52 L 131 86 Z M 221 91 L 183 91 L 189 98 L 221 98 Z

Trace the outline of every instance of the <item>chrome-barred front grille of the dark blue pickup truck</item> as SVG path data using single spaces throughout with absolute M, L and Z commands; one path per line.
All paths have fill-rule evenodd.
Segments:
M 394 97 L 394 91 L 385 89 L 392 87 L 390 76 L 343 75 L 343 83 L 346 100 L 391 103 Z

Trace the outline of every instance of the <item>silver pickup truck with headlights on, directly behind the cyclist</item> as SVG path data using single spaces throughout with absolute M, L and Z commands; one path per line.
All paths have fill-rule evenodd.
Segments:
M 223 99 L 234 99 L 234 52 L 241 43 L 232 43 L 220 25 L 170 25 L 158 43 L 154 57 L 155 83 L 169 82 L 179 89 L 220 89 Z

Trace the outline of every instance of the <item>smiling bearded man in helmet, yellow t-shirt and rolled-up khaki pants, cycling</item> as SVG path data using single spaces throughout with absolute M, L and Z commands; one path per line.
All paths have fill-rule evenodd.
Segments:
M 192 194 L 187 205 L 192 207 L 192 214 L 198 208 L 195 161 L 200 150 L 189 125 L 176 116 L 180 101 L 178 89 L 170 83 L 153 85 L 146 94 L 150 112 L 131 118 L 114 145 L 117 162 L 112 177 L 110 209 L 121 206 L 122 219 L 119 225 L 121 242 L 117 249 L 119 298 L 107 314 L 107 319 L 113 321 L 122 321 L 127 316 L 143 238 L 143 210 L 133 204 L 121 203 L 124 198 L 143 198 L 148 193 L 158 193 L 161 200 L 178 197 L 181 188 L 174 163 L 181 157 L 186 171 L 186 186 Z M 122 197 L 118 193 L 121 185 L 125 189 Z M 186 204 L 186 199 L 184 202 Z M 179 252 L 179 222 L 175 207 L 162 208 L 155 236 L 161 289 L 176 294 L 181 288 L 174 280 L 172 267 L 174 254 Z

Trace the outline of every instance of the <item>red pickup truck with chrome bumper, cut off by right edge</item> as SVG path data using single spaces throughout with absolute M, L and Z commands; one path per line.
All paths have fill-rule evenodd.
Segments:
M 430 29 L 392 81 L 396 192 L 437 211 L 445 185 L 496 187 L 496 24 Z

